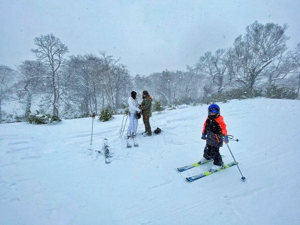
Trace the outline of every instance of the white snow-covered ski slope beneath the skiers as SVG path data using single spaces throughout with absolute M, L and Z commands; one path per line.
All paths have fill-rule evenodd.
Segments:
M 55 125 L 0 124 L 0 224 L 300 224 L 300 101 L 220 104 L 236 166 L 187 182 L 207 105 L 153 113 L 139 147 L 119 139 L 122 116 L 94 120 L 94 149 L 108 139 L 111 163 L 89 150 L 91 118 Z M 139 120 L 138 131 L 143 131 Z M 224 162 L 231 155 L 223 146 Z

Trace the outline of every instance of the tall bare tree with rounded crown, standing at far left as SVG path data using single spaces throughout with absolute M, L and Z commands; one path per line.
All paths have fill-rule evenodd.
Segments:
M 35 53 L 43 68 L 49 72 L 47 77 L 51 80 L 53 101 L 50 105 L 53 106 L 52 115 L 58 116 L 58 100 L 60 97 L 58 69 L 63 63 L 63 54 L 68 52 L 68 48 L 52 33 L 35 37 L 34 43 L 37 48 L 31 49 L 31 51 Z

